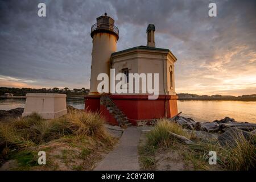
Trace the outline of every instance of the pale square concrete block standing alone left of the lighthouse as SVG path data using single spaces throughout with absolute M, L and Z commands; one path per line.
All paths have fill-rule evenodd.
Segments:
M 58 118 L 67 114 L 66 94 L 27 93 L 22 116 L 38 113 L 44 119 Z

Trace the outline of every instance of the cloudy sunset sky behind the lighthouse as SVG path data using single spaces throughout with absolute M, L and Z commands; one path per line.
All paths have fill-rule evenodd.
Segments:
M 89 88 L 90 28 L 105 12 L 119 28 L 117 51 L 146 46 L 155 24 L 156 47 L 177 57 L 176 93 L 256 94 L 256 1 L 240 0 L 0 0 L 0 86 Z

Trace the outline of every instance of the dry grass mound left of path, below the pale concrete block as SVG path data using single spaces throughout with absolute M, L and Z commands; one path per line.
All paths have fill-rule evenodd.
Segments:
M 0 123 L 0 160 L 16 159 L 17 156 L 18 159 L 22 158 L 18 155 L 22 152 L 34 155 L 39 148 L 47 146 L 48 143 L 56 143 L 55 141 L 64 145 L 73 145 L 72 147 L 81 150 L 82 156 L 88 152 L 86 151 L 89 150 L 88 147 L 92 153 L 95 153 L 97 148 L 105 150 L 116 142 L 106 132 L 104 119 L 98 113 L 74 110 L 57 119 L 42 119 L 40 115 L 34 113 Z M 96 149 L 94 150 L 93 147 Z M 33 159 L 30 155 L 29 157 Z M 93 154 L 90 155 L 94 158 Z

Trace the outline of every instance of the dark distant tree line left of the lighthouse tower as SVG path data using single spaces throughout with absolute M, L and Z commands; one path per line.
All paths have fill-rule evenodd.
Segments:
M 3 96 L 5 93 L 12 93 L 14 96 L 26 96 L 27 93 L 64 93 L 69 97 L 79 97 L 84 96 L 89 93 L 89 89 L 69 89 L 65 87 L 64 89 L 59 88 L 42 88 L 42 89 L 32 89 L 32 88 L 8 88 L 0 87 L 0 96 Z

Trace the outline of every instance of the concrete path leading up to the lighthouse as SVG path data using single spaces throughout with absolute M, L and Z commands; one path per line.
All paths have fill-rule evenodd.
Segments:
M 123 131 L 119 143 L 113 151 L 106 155 L 94 171 L 139 170 L 138 144 L 141 130 L 135 126 Z

